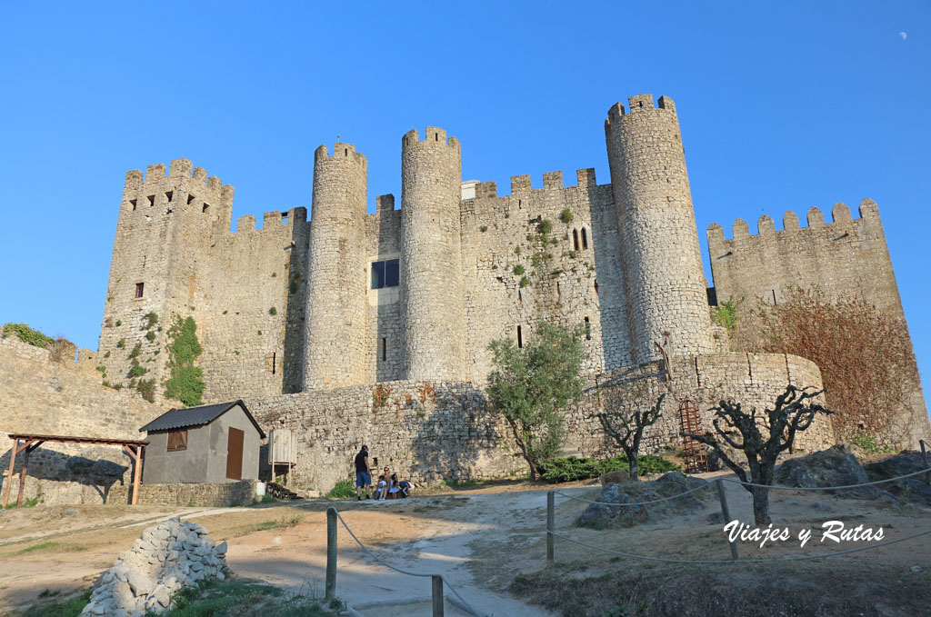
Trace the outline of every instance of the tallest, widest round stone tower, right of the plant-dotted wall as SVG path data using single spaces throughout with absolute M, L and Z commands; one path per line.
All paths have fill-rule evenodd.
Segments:
M 708 295 L 675 104 L 649 94 L 614 104 L 604 131 L 617 206 L 635 363 L 712 350 Z

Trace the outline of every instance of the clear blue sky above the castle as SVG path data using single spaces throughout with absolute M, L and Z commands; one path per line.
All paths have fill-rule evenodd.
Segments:
M 128 169 L 190 158 L 261 221 L 310 207 L 341 135 L 373 205 L 430 125 L 502 194 L 607 182 L 606 111 L 651 92 L 679 110 L 703 250 L 712 221 L 876 200 L 929 374 L 931 3 L 319 4 L 0 7 L 0 322 L 97 348 Z

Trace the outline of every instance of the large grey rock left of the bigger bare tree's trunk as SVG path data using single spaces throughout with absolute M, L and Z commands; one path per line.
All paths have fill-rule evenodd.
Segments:
M 708 482 L 705 480 L 685 476 L 680 472 L 669 472 L 652 482 L 606 484 L 596 500 L 601 503 L 590 503 L 582 516 L 579 516 L 578 525 L 598 529 L 632 527 L 687 512 L 695 512 L 712 495 L 713 491 L 697 490 L 677 499 L 649 505 L 610 504 L 652 502 L 706 485 Z

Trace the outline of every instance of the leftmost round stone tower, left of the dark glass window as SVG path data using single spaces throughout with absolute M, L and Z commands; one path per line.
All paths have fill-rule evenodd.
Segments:
M 304 390 L 366 382 L 369 163 L 348 143 L 314 154 Z

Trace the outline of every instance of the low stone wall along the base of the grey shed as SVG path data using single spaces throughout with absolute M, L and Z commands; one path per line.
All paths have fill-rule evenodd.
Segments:
M 132 485 L 117 486 L 107 495 L 107 505 L 129 503 Z M 255 497 L 255 480 L 218 484 L 143 484 L 141 505 L 229 507 L 249 505 Z

